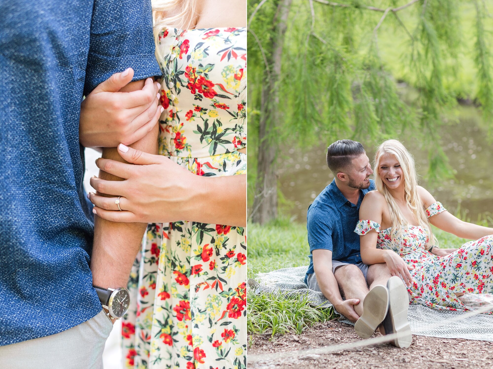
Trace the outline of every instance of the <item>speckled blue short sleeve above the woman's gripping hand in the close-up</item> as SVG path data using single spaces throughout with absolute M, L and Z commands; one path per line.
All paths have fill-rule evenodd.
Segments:
M 134 81 L 160 76 L 150 0 L 95 0 L 84 95 L 128 67 Z

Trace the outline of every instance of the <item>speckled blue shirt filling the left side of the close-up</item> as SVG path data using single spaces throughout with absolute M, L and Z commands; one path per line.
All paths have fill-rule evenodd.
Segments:
M 80 102 L 127 67 L 161 74 L 150 0 L 0 2 L 0 345 L 101 311 Z

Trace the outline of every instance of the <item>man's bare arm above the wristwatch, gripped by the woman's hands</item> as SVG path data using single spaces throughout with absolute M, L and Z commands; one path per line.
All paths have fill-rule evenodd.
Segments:
M 132 82 L 126 86 L 126 91 L 141 89 L 143 83 L 144 81 Z M 124 90 L 122 89 L 121 91 Z M 157 154 L 158 130 L 159 127 L 156 124 L 153 131 L 132 144 L 131 147 Z M 116 148 L 104 148 L 103 157 L 124 162 Z M 99 177 L 109 180 L 122 180 L 103 170 L 100 171 Z M 96 215 L 94 218 L 94 242 L 91 257 L 93 283 L 104 288 L 124 287 L 128 283 L 130 270 L 139 252 L 147 224 L 114 223 Z

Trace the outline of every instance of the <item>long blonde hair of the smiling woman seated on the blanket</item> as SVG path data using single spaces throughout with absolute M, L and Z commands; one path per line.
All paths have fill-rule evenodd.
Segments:
M 420 225 L 426 227 L 428 232 L 428 243 L 433 240 L 437 243 L 435 236 L 431 232 L 431 226 L 426 217 L 426 213 L 423 208 L 423 201 L 421 201 L 420 194 L 418 193 L 418 178 L 416 174 L 416 166 L 413 156 L 407 151 L 404 145 L 395 139 L 389 139 L 382 142 L 375 153 L 375 187 L 377 191 L 384 195 L 388 205 L 388 212 L 390 214 L 390 222 L 392 227 L 390 234 L 399 238 L 402 235 L 404 226 L 408 226 L 409 222 L 406 220 L 399 205 L 392 197 L 387 189 L 387 186 L 380 178 L 380 160 L 385 154 L 395 156 L 400 164 L 402 173 L 404 175 L 404 199 L 406 204 L 411 208 L 411 211 Z M 428 249 L 427 247 L 426 249 Z

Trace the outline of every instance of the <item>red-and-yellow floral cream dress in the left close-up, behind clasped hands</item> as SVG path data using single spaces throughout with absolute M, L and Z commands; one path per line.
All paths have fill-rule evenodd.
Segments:
M 165 28 L 159 43 L 159 153 L 197 175 L 245 174 L 246 29 Z M 246 368 L 245 282 L 244 228 L 149 224 L 129 281 L 124 367 Z

